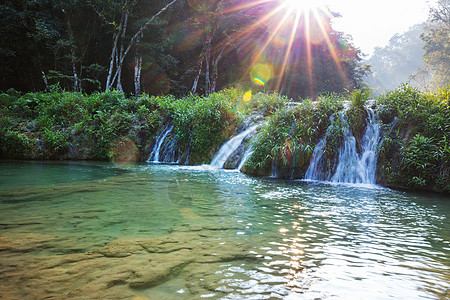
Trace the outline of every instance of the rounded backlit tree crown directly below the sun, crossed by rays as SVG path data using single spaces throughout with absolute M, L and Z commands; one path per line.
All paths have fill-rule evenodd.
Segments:
M 341 93 L 358 88 L 367 67 L 361 51 L 351 37 L 334 30 L 333 18 L 339 14 L 326 9 L 293 14 L 277 36 L 284 44 L 271 43 L 266 57 L 274 65 L 269 86 L 292 98 L 316 98 L 321 93 Z M 269 26 L 277 28 L 279 18 Z

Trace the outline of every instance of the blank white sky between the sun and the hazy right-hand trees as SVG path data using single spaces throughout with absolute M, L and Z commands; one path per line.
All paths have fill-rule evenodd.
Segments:
M 353 36 L 353 43 L 371 55 L 376 46 L 387 45 L 396 33 L 427 20 L 435 0 L 327 0 L 342 17 L 333 21 L 336 30 Z

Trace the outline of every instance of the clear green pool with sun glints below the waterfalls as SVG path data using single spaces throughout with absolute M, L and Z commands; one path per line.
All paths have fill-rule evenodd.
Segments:
M 449 200 L 208 166 L 0 162 L 0 298 L 448 299 Z M 182 246 L 92 254 L 158 239 Z M 101 284 L 170 260 L 149 286 Z

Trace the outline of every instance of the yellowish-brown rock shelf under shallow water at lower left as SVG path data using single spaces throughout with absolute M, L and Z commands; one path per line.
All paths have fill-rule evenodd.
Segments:
M 155 238 L 118 239 L 78 254 L 40 255 L 51 236 L 17 234 L 0 238 L 0 298 L 133 299 L 139 291 L 164 283 L 193 264 L 258 259 L 251 243 L 216 238 L 215 224 Z M 68 242 L 73 242 L 68 240 Z

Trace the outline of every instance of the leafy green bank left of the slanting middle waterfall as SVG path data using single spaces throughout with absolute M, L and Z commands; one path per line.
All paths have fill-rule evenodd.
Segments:
M 190 163 L 209 163 L 246 115 L 269 114 L 286 102 L 262 93 L 244 101 L 235 89 L 180 99 L 126 98 L 118 91 L 21 95 L 10 90 L 0 94 L 0 157 L 105 160 L 126 138 L 142 160 L 161 125 L 171 122 L 179 151 L 190 153 Z

